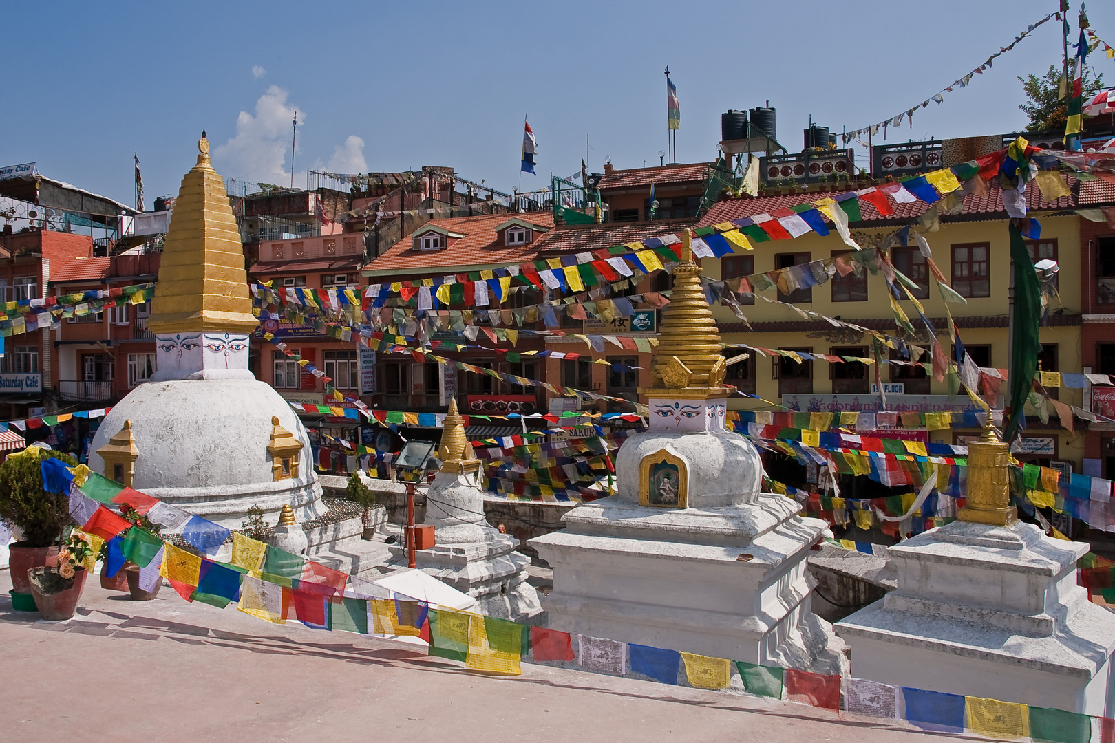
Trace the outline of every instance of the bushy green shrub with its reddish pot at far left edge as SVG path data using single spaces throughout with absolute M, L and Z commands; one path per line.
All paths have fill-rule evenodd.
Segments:
M 27 571 L 35 567 L 58 565 L 62 532 L 71 521 L 68 496 L 42 489 L 39 463 L 51 458 L 69 467 L 77 465 L 77 460 L 69 454 L 38 447 L 9 454 L 0 465 L 0 520 L 22 535 L 20 541 L 8 548 L 11 604 L 17 612 L 35 610 Z

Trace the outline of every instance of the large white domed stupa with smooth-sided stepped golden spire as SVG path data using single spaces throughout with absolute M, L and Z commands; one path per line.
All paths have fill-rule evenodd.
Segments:
M 323 512 L 298 416 L 248 369 L 252 314 L 240 233 L 209 140 L 182 179 L 147 326 L 156 372 L 105 417 L 89 468 L 167 504 L 239 527 Z

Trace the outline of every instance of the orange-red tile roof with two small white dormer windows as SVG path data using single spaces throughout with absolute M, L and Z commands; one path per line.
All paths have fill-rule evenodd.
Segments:
M 371 261 L 363 270 L 420 272 L 426 268 L 438 271 L 457 266 L 496 266 L 532 261 L 539 252 L 539 245 L 550 236 L 551 232 L 535 233 L 534 242 L 530 245 L 503 245 L 496 241 L 495 228 L 513 216 L 547 229 L 554 225 L 553 212 L 430 219 Z M 414 236 L 420 235 L 432 225 L 460 233 L 464 237 L 452 239 L 448 247 L 436 252 L 414 250 Z

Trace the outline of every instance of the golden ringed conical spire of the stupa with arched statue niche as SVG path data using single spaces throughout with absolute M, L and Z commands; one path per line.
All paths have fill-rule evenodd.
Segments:
M 673 266 L 673 292 L 662 310 L 658 349 L 650 364 L 652 384 L 640 392 L 669 392 L 677 397 L 726 393 L 726 364 L 720 353 L 720 333 L 708 306 L 701 270 L 694 262 L 692 232 L 681 233 L 681 262 Z

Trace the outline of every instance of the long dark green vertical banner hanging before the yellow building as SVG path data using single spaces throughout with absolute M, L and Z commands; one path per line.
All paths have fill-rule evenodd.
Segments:
M 1026 428 L 1026 398 L 1034 389 L 1034 372 L 1038 370 L 1038 327 L 1041 323 L 1041 286 L 1034 268 L 1034 262 L 1022 242 L 1022 233 L 1014 219 L 1010 221 L 1010 260 L 1015 265 L 1015 301 L 1011 314 L 1010 371 L 1010 418 L 1006 428 L 1007 442 Z

